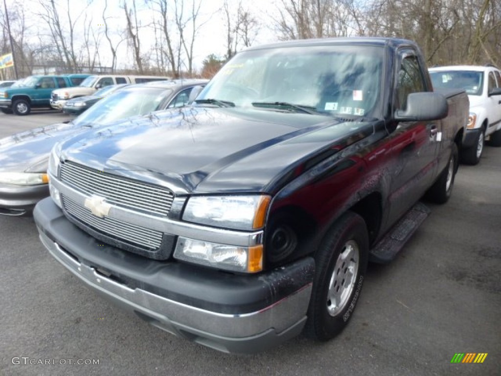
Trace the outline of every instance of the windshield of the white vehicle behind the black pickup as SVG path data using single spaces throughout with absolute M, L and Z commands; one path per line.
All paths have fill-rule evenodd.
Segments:
M 463 89 L 468 95 L 482 95 L 483 72 L 437 71 L 430 72 L 434 88 Z

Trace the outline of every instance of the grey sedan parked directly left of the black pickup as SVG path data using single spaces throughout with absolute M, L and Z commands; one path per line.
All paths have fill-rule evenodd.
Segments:
M 0 214 L 31 214 L 49 196 L 47 163 L 55 143 L 73 134 L 152 111 L 187 104 L 193 88 L 207 80 L 130 85 L 107 96 L 77 118 L 0 139 Z

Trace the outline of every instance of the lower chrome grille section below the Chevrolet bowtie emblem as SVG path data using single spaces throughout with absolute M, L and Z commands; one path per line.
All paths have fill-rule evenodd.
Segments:
M 92 215 L 89 209 L 80 206 L 65 196 L 63 196 L 63 205 L 71 216 L 104 235 L 150 250 L 156 250 L 162 244 L 163 234 L 159 231 L 146 229 L 110 217 L 96 217 Z

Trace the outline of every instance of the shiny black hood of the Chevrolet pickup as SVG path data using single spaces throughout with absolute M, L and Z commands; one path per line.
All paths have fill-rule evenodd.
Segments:
M 295 165 L 362 128 L 373 133 L 370 123 L 321 115 L 189 107 L 72 137 L 63 158 L 176 194 L 271 192 Z

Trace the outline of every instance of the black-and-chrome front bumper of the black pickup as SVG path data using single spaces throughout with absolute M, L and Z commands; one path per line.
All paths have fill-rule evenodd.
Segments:
M 100 244 L 51 199 L 34 212 L 49 252 L 91 289 L 154 326 L 224 352 L 264 351 L 305 323 L 315 262 L 258 275 L 156 261 Z

